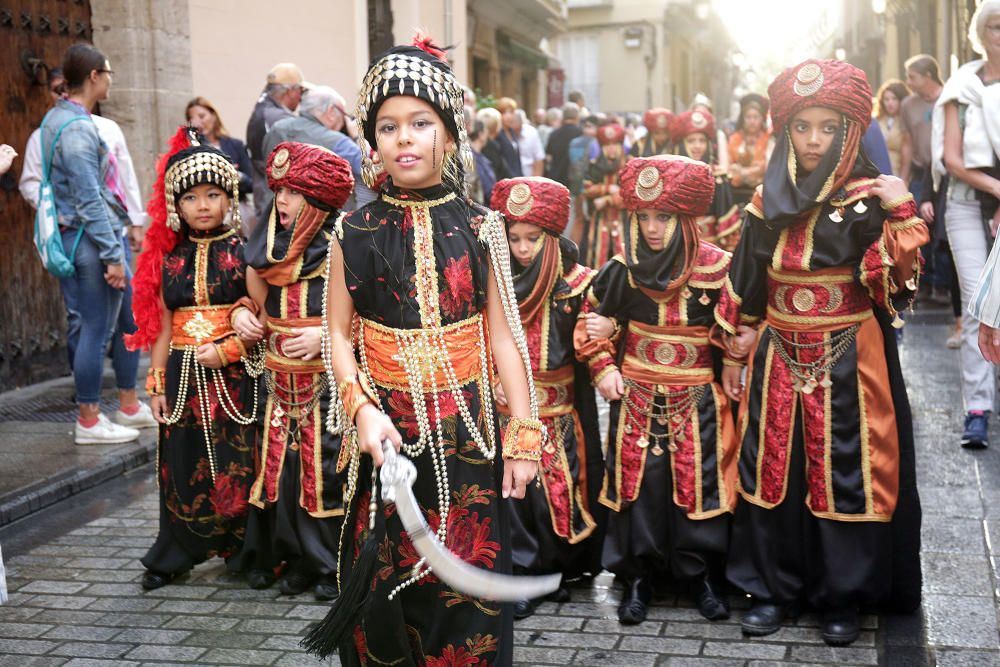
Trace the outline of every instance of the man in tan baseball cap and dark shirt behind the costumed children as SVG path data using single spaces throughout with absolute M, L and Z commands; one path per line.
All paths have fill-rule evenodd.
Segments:
M 271 203 L 267 176 L 264 174 L 268 156 L 264 152 L 264 136 L 279 120 L 295 115 L 296 109 L 302 102 L 305 85 L 302 70 L 297 65 L 293 63 L 275 65 L 267 73 L 267 84 L 257 98 L 250 120 L 247 121 L 247 150 L 250 151 L 254 209 L 258 220 L 266 215 L 265 204 Z

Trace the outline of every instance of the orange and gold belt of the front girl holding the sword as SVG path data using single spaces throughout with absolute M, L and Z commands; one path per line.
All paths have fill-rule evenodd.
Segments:
M 395 329 L 364 318 L 359 322 L 362 361 L 372 380 L 390 389 L 410 389 L 411 372 L 419 375 L 424 391 L 462 386 L 482 376 L 483 356 L 489 358 L 481 315 L 419 329 Z

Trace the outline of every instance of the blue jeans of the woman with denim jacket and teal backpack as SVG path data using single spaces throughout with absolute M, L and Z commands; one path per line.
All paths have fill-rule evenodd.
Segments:
M 76 241 L 77 230 L 65 230 L 62 237 L 68 251 Z M 93 404 L 101 400 L 104 352 L 118 322 L 124 292 L 104 280 L 104 263 L 86 234 L 80 239 L 73 264 L 76 275 L 60 281 L 69 320 L 67 347 L 71 350 L 76 401 Z M 135 386 L 135 370 L 132 377 Z

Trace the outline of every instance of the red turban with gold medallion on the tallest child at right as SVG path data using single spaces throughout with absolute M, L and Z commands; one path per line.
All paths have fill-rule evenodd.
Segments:
M 867 128 L 872 89 L 865 73 L 842 60 L 806 60 L 779 74 L 767 88 L 775 131 L 807 107 L 827 107 Z

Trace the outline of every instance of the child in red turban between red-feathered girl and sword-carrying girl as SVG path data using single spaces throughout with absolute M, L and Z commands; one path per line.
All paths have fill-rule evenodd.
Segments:
M 267 405 L 241 560 L 253 588 L 270 586 L 284 562 L 282 594 L 312 587 L 316 599 L 332 600 L 344 510 L 340 438 L 324 433 L 329 387 L 320 342 L 326 256 L 354 178 L 330 150 L 293 142 L 275 147 L 266 172 L 275 198 L 247 242 L 252 299 L 233 309 L 237 331 L 266 331 Z

